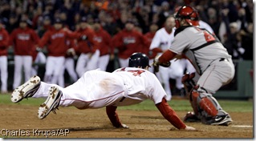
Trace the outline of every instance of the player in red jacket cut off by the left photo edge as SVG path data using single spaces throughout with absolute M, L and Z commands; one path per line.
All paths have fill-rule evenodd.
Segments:
M 7 79 L 8 79 L 8 60 L 7 49 L 9 45 L 9 34 L 3 27 L 2 20 L 0 19 L 0 76 L 1 76 L 1 92 L 7 92 Z

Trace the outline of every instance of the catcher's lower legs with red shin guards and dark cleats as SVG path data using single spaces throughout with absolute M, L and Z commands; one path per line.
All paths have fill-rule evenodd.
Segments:
M 210 125 L 229 125 L 232 122 L 230 115 L 223 111 L 220 104 L 204 88 L 193 89 L 189 95 L 194 113 L 188 113 L 185 121 L 201 120 L 201 123 Z

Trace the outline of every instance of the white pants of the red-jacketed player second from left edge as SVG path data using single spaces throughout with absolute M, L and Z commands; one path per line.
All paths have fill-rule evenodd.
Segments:
M 32 56 L 30 55 L 14 55 L 14 84 L 13 89 L 17 88 L 21 84 L 22 80 L 22 66 L 25 73 L 25 82 L 30 79 Z

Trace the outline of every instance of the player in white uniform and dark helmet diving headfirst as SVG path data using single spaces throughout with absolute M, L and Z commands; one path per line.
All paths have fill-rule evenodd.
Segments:
M 148 71 L 148 57 L 135 53 L 129 58 L 128 66 L 112 73 L 87 71 L 74 84 L 63 88 L 43 83 L 38 76 L 30 78 L 16 88 L 11 101 L 18 103 L 26 98 L 47 98 L 39 107 L 39 119 L 44 119 L 59 106 L 74 106 L 78 109 L 106 107 L 108 118 L 114 127 L 128 127 L 120 122 L 116 113 L 119 106 L 128 106 L 151 99 L 161 114 L 177 129 L 196 131 L 186 126 L 166 102 L 166 93 L 156 76 Z

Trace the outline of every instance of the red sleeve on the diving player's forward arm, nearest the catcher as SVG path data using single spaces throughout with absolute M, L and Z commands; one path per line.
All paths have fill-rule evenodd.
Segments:
M 173 124 L 174 127 L 177 127 L 177 129 L 185 129 L 185 123 L 181 121 L 173 108 L 166 102 L 165 98 L 162 99 L 161 103 L 157 103 L 156 107 L 165 119 L 167 119 L 169 123 Z

